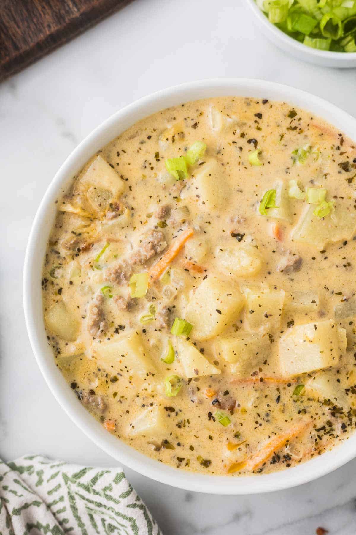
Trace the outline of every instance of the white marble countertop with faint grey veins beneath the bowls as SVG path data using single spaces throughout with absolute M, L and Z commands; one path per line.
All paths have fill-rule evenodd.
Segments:
M 29 228 L 60 164 L 95 126 L 166 86 L 250 77 L 311 91 L 356 116 L 356 69 L 295 60 L 259 35 L 244 0 L 136 0 L 0 85 L 0 457 L 41 453 L 109 466 L 76 428 L 37 368 L 22 312 Z M 42 262 L 42 259 L 38 259 Z M 164 535 L 356 532 L 356 460 L 313 483 L 255 496 L 169 488 L 126 470 Z

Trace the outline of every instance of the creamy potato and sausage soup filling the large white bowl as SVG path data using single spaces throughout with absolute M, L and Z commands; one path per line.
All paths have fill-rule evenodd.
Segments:
M 58 198 L 44 262 L 68 395 L 203 473 L 268 473 L 346 440 L 354 184 L 354 143 L 288 103 L 189 102 L 118 136 Z

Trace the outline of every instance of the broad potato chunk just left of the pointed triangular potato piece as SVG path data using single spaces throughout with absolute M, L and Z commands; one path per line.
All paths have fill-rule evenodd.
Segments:
M 125 375 L 141 378 L 156 372 L 155 365 L 139 333 L 131 331 L 117 340 L 93 343 L 92 354 L 102 365 L 120 369 Z

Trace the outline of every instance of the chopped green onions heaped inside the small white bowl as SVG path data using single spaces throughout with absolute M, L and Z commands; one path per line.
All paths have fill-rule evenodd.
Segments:
M 256 0 L 268 20 L 307 47 L 356 52 L 356 0 Z M 350 39 L 345 41 L 345 37 Z

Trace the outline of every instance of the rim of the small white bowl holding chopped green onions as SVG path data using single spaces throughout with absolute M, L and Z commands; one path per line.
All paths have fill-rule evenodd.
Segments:
M 280 28 L 272 24 L 265 16 L 262 10 L 259 9 L 255 0 L 246 0 L 252 11 L 258 17 L 258 20 L 276 37 L 276 39 L 282 41 L 289 47 L 294 48 L 300 53 L 304 53 L 307 56 L 319 57 L 323 59 L 336 59 L 340 60 L 340 63 L 350 63 L 350 60 L 356 60 L 356 52 L 336 52 L 334 50 L 318 50 L 316 48 L 307 47 L 303 43 L 299 43 L 293 37 L 282 32 Z

